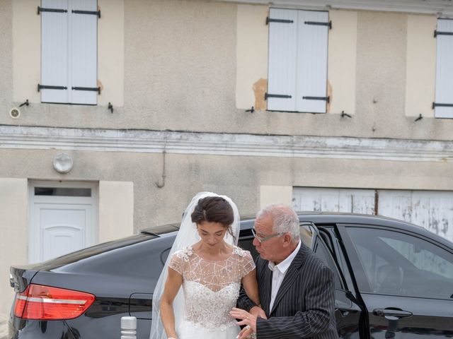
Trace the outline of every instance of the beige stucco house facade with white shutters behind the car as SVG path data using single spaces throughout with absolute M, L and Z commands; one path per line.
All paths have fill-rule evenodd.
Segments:
M 176 222 L 198 191 L 453 240 L 452 15 L 440 0 L 0 1 L 0 312 L 11 264 Z

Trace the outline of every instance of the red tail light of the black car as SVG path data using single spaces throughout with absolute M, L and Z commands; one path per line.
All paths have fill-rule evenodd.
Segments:
M 93 304 L 96 297 L 86 292 L 30 284 L 16 295 L 14 315 L 22 319 L 74 319 Z

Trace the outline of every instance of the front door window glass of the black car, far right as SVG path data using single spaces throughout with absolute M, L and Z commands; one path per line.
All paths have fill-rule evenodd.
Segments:
M 362 292 L 453 298 L 453 254 L 400 232 L 348 227 L 367 276 Z

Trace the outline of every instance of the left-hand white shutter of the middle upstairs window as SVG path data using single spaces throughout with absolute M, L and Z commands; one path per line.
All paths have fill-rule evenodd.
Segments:
M 268 110 L 295 111 L 297 11 L 270 8 L 269 19 Z

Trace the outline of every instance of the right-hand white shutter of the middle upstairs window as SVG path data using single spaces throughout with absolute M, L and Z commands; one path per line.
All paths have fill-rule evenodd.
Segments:
M 296 111 L 325 113 L 328 12 L 298 12 Z

